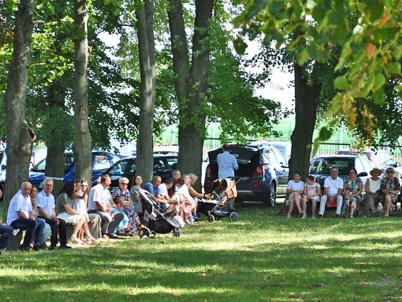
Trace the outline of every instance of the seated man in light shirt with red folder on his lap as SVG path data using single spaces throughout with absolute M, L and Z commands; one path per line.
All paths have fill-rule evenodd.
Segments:
M 342 191 L 343 180 L 338 176 L 338 167 L 333 166 L 331 168 L 331 176 L 327 177 L 324 181 L 324 195 L 321 197 L 318 218 L 323 218 L 327 201 L 334 200 L 336 200 L 336 217 L 340 217 L 343 202 Z

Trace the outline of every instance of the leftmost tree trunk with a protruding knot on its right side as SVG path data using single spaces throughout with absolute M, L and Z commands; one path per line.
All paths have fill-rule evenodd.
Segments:
M 32 31 L 35 25 L 34 0 L 21 0 L 16 12 L 14 49 L 7 80 L 4 107 L 7 131 L 7 178 L 3 220 L 7 219 L 10 200 L 28 180 L 29 163 L 35 134 L 25 121 L 25 95 Z

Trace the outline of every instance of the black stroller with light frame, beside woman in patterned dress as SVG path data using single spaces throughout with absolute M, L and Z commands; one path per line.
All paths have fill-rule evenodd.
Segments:
M 173 231 L 173 237 L 180 237 L 180 225 L 170 218 L 170 215 L 175 211 L 174 209 L 163 212 L 151 193 L 138 188 L 134 188 L 134 192 L 140 196 L 144 219 L 147 221 L 147 227 L 138 232 L 140 238 L 150 237 L 151 235 L 155 237 L 157 233 L 167 234 L 171 231 Z

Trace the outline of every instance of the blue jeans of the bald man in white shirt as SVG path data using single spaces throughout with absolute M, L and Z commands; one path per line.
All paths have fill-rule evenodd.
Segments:
M 14 229 L 25 230 L 25 237 L 23 242 L 23 247 L 29 247 L 32 242 L 32 238 L 35 234 L 35 241 L 34 246 L 42 243 L 43 235 L 45 233 L 45 220 L 42 218 L 33 219 L 25 219 L 25 218 L 18 218 L 11 222 L 11 226 Z

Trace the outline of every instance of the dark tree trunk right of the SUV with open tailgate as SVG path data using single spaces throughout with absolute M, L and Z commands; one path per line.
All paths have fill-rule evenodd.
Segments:
M 315 63 L 311 78 L 320 68 Z M 316 125 L 318 98 L 321 93 L 321 83 L 308 84 L 305 67 L 294 64 L 294 96 L 296 121 L 291 137 L 292 149 L 289 162 L 289 180 L 294 172 L 302 172 L 302 181 L 309 175 L 310 154 L 313 143 L 313 132 Z

